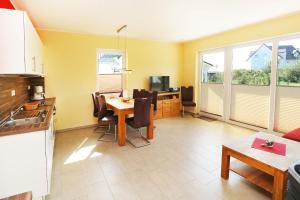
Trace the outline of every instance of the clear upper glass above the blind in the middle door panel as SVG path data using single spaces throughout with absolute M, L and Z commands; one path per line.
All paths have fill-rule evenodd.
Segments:
M 232 84 L 270 85 L 272 43 L 233 49 Z

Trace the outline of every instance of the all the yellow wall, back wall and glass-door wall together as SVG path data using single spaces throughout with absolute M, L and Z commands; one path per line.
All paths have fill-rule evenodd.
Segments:
M 300 13 L 200 38 L 184 44 L 128 39 L 127 88 L 148 88 L 151 75 L 171 76 L 171 86 L 194 85 L 197 53 L 247 41 L 300 32 Z M 116 49 L 117 38 L 39 31 L 44 43 L 46 96 L 57 97 L 57 129 L 94 124 L 91 92 L 96 89 L 96 48 Z M 124 43 L 120 44 L 124 48 Z

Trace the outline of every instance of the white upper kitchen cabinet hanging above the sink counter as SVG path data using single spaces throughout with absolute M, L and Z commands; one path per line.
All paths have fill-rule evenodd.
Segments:
M 43 74 L 42 42 L 24 11 L 0 9 L 0 74 Z

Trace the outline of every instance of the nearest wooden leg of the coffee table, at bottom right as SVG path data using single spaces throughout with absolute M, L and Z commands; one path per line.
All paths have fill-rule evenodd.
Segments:
M 277 170 L 274 175 L 273 200 L 283 200 L 286 191 L 287 175 L 286 172 Z

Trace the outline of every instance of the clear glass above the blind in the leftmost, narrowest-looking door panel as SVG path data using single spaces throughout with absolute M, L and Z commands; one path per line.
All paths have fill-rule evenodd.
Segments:
M 203 55 L 202 82 L 223 83 L 224 80 L 224 52 Z

